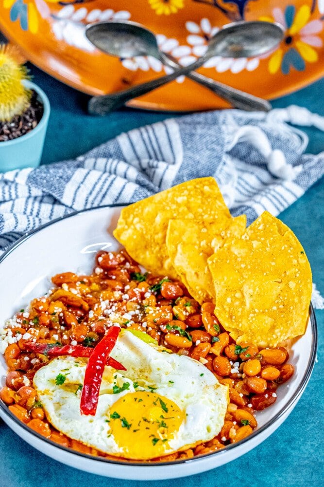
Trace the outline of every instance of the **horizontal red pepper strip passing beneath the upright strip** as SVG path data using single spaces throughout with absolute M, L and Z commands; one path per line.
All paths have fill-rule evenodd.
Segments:
M 59 357 L 61 355 L 69 355 L 71 357 L 89 357 L 93 348 L 83 347 L 82 345 L 56 345 L 56 343 L 35 343 L 34 341 L 26 341 L 25 347 L 37 354 L 43 354 L 48 357 Z M 126 368 L 112 357 L 108 357 L 106 365 L 110 365 L 116 370 L 126 370 Z

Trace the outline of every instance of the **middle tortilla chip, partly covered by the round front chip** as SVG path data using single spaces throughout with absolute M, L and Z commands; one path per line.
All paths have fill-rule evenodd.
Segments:
M 215 302 L 207 259 L 228 241 L 241 237 L 246 216 L 210 220 L 170 220 L 167 248 L 173 267 L 191 296 L 202 304 Z

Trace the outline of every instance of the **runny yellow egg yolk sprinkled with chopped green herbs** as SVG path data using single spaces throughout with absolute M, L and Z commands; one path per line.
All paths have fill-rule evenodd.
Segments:
M 112 406 L 108 434 L 125 456 L 145 460 L 170 453 L 169 441 L 183 419 L 183 411 L 167 397 L 138 391 L 120 397 Z

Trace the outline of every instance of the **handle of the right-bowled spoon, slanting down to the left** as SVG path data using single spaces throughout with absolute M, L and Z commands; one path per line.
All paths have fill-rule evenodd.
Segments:
M 200 57 L 194 63 L 174 71 L 171 75 L 161 76 L 160 78 L 153 79 L 147 83 L 133 86 L 128 90 L 112 94 L 104 94 L 102 96 L 94 96 L 89 100 L 88 111 L 89 113 L 96 115 L 105 115 L 106 113 L 112 112 L 113 110 L 122 107 L 127 101 L 142 96 L 145 93 L 149 93 L 156 88 L 173 81 L 173 79 L 176 79 L 178 76 L 188 75 L 191 70 L 200 68 L 207 59 L 208 56 Z

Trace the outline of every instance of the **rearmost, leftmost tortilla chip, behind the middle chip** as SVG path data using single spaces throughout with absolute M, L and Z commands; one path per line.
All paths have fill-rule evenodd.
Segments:
M 114 236 L 147 271 L 178 279 L 166 245 L 169 220 L 224 217 L 231 215 L 215 179 L 193 179 L 123 208 Z

